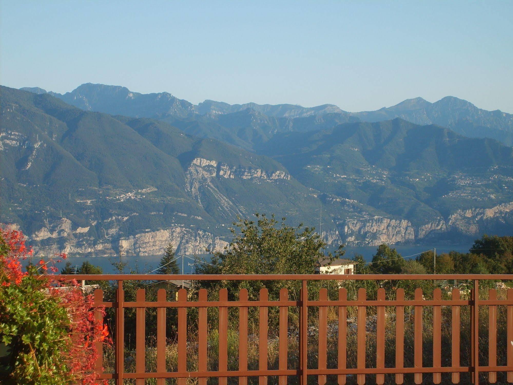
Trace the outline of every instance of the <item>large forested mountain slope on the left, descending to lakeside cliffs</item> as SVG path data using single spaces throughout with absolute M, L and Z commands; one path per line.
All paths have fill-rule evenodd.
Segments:
M 299 222 L 319 206 L 278 162 L 164 122 L 7 87 L 0 104 L 0 221 L 46 249 L 152 254 L 172 237 L 201 253 L 237 215 Z

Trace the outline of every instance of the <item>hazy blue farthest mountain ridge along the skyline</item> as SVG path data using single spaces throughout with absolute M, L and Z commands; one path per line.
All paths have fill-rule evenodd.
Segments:
M 46 92 L 38 87 L 22 89 L 35 93 Z M 445 97 L 435 103 L 430 103 L 422 98 L 414 98 L 376 111 L 347 112 L 332 104 L 317 107 L 256 103 L 230 105 L 206 100 L 194 105 L 178 99 L 168 92 L 142 94 L 132 92 L 126 87 L 91 83 L 83 84 L 65 94 L 51 91 L 49 93 L 84 110 L 159 119 L 180 126 L 186 132 L 191 130 L 190 133 L 204 137 L 213 137 L 212 127 L 217 124 L 224 127 L 222 122 L 218 122 L 220 115 L 240 113 L 249 109 L 254 111 L 253 115 L 255 115 L 252 128 L 269 130 L 272 133 L 299 130 L 300 127 L 303 130 L 325 129 L 346 122 L 381 122 L 401 118 L 420 125 L 437 124 L 470 138 L 491 138 L 508 146 L 513 145 L 513 114 L 500 110 L 483 110 L 466 100 L 455 97 Z M 239 115 L 233 115 L 234 119 L 225 118 L 224 121 L 230 121 L 233 125 L 233 122 L 239 119 L 238 117 Z M 269 118 L 277 119 L 269 122 Z M 295 118 L 309 119 L 297 120 Z M 188 123 L 177 123 L 178 120 L 185 120 Z M 194 124 L 191 124 L 191 121 Z M 246 142 L 244 137 L 247 136 L 245 132 L 247 127 L 247 124 L 238 124 L 227 132 L 215 129 L 220 132 L 220 137 L 217 139 L 228 140 L 231 141 L 230 143 L 249 149 L 252 147 L 251 140 L 249 144 L 244 143 Z M 239 131 L 242 132 L 239 134 Z M 233 136 L 242 136 L 240 138 L 242 142 L 235 143 L 236 140 L 230 138 Z

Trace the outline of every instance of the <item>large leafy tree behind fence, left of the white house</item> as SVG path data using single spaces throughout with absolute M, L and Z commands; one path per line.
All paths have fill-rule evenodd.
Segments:
M 255 214 L 256 221 L 238 218 L 230 228 L 233 240 L 224 252 L 212 253 L 211 265 L 199 265 L 199 274 L 314 274 L 320 259 L 333 260 L 344 255 L 343 245 L 332 254 L 324 255 L 326 243 L 312 227 L 288 226 Z M 239 296 L 241 288 L 247 288 L 251 300 L 258 299 L 259 290 L 266 287 L 269 299 L 279 298 L 282 287 L 290 295 L 298 297 L 300 284 L 294 281 L 226 281 L 199 282 L 201 287 L 227 287 L 232 299 Z

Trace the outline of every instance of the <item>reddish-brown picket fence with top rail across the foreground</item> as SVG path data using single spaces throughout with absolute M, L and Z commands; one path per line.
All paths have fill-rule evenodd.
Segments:
M 241 385 L 246 385 L 248 377 L 259 377 L 259 385 L 267 383 L 267 376 L 278 376 L 280 385 L 287 383 L 287 376 L 299 376 L 300 383 L 306 385 L 307 376 L 317 376 L 317 382 L 324 385 L 327 375 L 337 375 L 339 384 L 345 384 L 347 375 L 355 375 L 359 385 L 364 384 L 366 375 L 376 375 L 376 383 L 383 384 L 385 374 L 395 374 L 398 384 L 404 382 L 404 374 L 413 373 L 414 382 L 420 384 L 426 380 L 426 374 L 432 375 L 433 383 L 440 383 L 442 373 L 451 373 L 453 383 L 460 381 L 460 373 L 470 373 L 473 383 L 479 383 L 480 372 L 488 372 L 487 380 L 491 383 L 497 381 L 497 372 L 506 372 L 508 382 L 513 382 L 513 289 L 507 290 L 506 299 L 497 299 L 497 291 L 490 289 L 488 299 L 479 298 L 479 281 L 483 280 L 513 280 L 513 275 L 67 275 L 63 279 L 77 280 L 105 280 L 117 281 L 116 300 L 105 302 L 102 290 L 94 291 L 96 305 L 112 307 L 116 310 L 115 319 L 115 373 L 102 373 L 100 378 L 115 379 L 116 383 L 123 383 L 124 379 L 136 379 L 136 384 L 144 384 L 145 379 L 157 378 L 157 384 L 164 384 L 166 378 L 177 378 L 179 385 L 185 385 L 186 378 L 196 377 L 200 385 L 206 385 L 207 378 L 218 377 L 220 385 L 227 384 L 228 377 L 238 377 Z M 262 288 L 259 299 L 248 300 L 248 291 L 239 292 L 239 300 L 229 301 L 228 291 L 223 288 L 219 291 L 219 300 L 208 301 L 207 290 L 199 290 L 198 300 L 189 301 L 187 291 L 180 289 L 176 301 L 166 300 L 166 291 L 157 291 L 156 301 L 146 301 L 144 289 L 139 289 L 136 301 L 125 301 L 123 281 L 128 280 L 299 280 L 301 281 L 301 294 L 298 300 L 290 300 L 286 288 L 282 288 L 279 300 L 270 301 L 268 291 Z M 378 289 L 377 300 L 367 300 L 365 288 L 358 290 L 355 300 L 347 299 L 347 291 L 339 288 L 338 299 L 329 300 L 326 288 L 318 292 L 318 300 L 308 299 L 308 281 L 334 280 L 465 280 L 472 282 L 470 298 L 462 299 L 458 288 L 453 288 L 450 299 L 442 299 L 442 291 L 435 288 L 432 300 L 423 298 L 423 292 L 416 288 L 413 300 L 405 300 L 402 288 L 395 291 L 395 299 L 386 300 L 385 290 Z M 427 293 L 426 293 L 427 294 Z M 389 293 L 390 295 L 390 293 Z M 338 336 L 337 336 L 337 368 L 327 368 L 327 310 L 333 306 L 338 308 Z M 357 364 L 356 368 L 347 368 L 347 308 L 357 309 Z M 367 308 L 376 307 L 376 357 L 373 368 L 366 367 L 366 339 L 367 336 Z M 385 308 L 395 310 L 395 366 L 385 367 Z M 405 306 L 413 306 L 413 367 L 405 367 Z M 423 310 L 432 306 L 432 366 L 425 367 L 423 361 Z M 450 306 L 450 366 L 442 366 L 442 306 Z M 461 334 L 461 306 L 470 309 L 470 364 L 461 365 L 460 362 L 460 334 Z M 479 315 L 480 306 L 488 308 L 488 364 L 479 362 Z M 497 365 L 497 306 L 506 308 L 506 365 Z M 156 308 L 156 372 L 145 372 L 145 310 Z M 177 308 L 177 371 L 166 371 L 166 308 Z M 219 309 L 219 370 L 207 370 L 207 309 Z M 228 370 L 228 308 L 239 309 L 239 370 Z M 259 317 L 259 363 L 258 370 L 248 370 L 248 308 L 258 307 Z M 268 308 L 279 308 L 279 357 L 278 369 L 268 369 Z M 288 317 L 289 307 L 297 307 L 299 320 L 299 367 L 287 368 L 288 359 Z M 308 367 L 308 308 L 318 309 L 318 368 Z M 124 311 L 128 308 L 136 309 L 136 356 L 135 372 L 125 372 L 124 359 Z M 187 309 L 198 309 L 198 370 L 187 370 Z M 101 318 L 101 314 L 95 315 Z M 102 352 L 103 346 L 97 344 Z M 96 362 L 98 371 L 103 367 L 102 354 Z

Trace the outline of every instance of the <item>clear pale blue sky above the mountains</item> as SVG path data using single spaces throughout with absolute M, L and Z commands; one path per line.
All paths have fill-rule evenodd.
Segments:
M 390 3 L 390 4 L 387 4 Z M 0 2 L 0 83 L 168 91 L 193 103 L 446 95 L 513 112 L 513 1 Z

